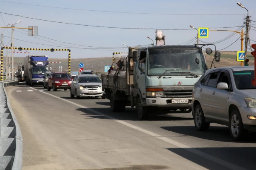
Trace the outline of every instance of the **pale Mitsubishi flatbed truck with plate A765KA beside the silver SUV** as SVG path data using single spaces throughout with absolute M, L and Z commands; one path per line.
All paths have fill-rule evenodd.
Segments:
M 135 107 L 140 120 L 149 113 L 191 113 L 193 86 L 208 69 L 202 47 L 165 45 L 165 37 L 159 30 L 156 33 L 157 45 L 129 47 L 128 54 L 118 53 L 117 66 L 102 76 L 113 112 Z M 214 60 L 220 61 L 219 52 Z

